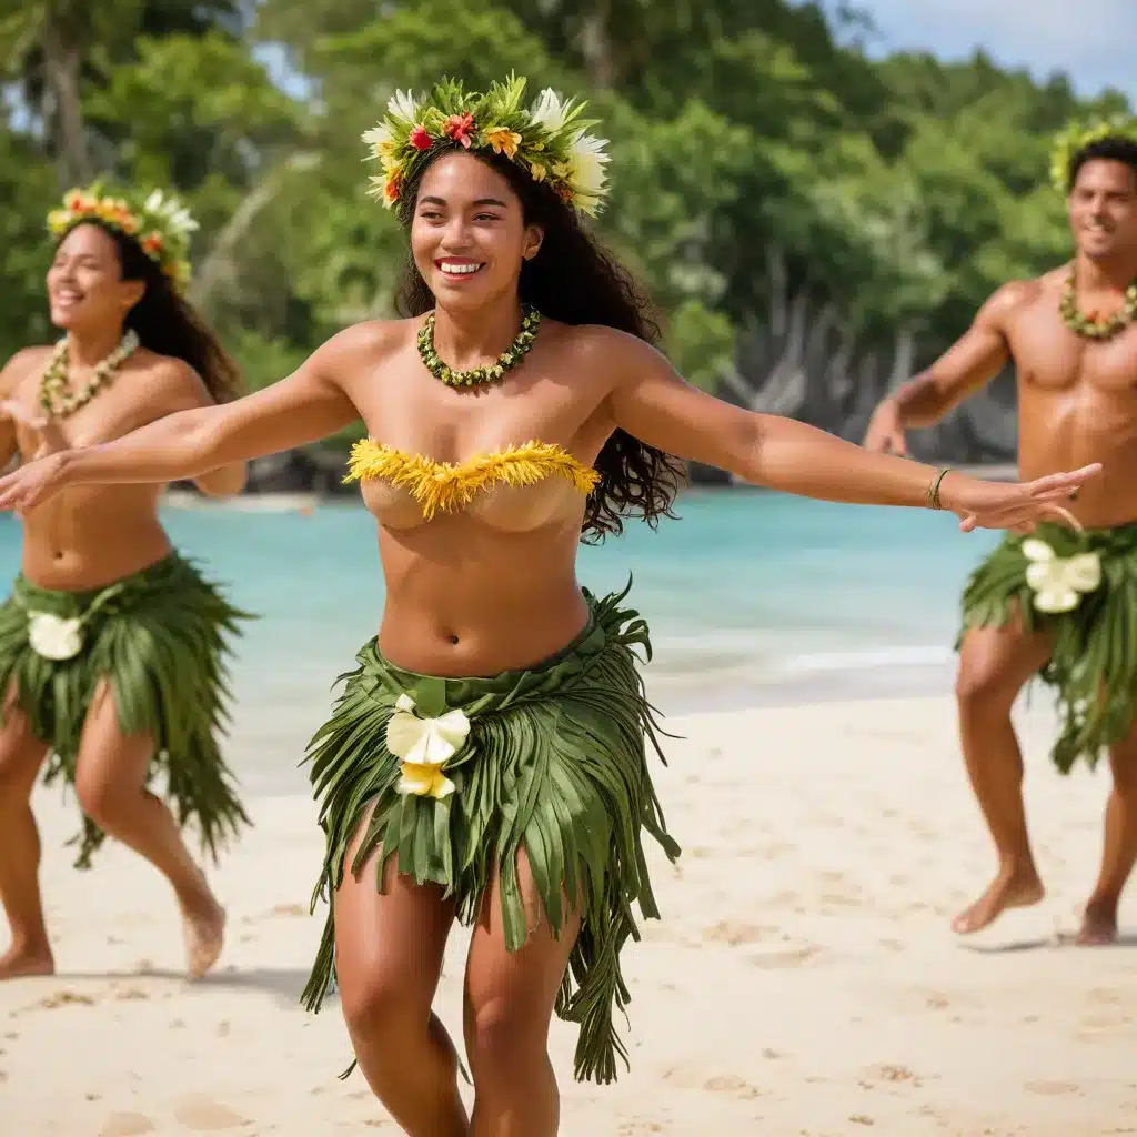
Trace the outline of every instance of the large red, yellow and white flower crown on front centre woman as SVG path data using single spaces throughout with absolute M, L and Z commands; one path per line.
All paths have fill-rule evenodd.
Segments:
M 607 193 L 607 141 L 587 133 L 596 123 L 581 118 L 586 103 L 545 90 L 526 108 L 524 91 L 525 80 L 511 75 L 485 93 L 466 92 L 449 78 L 417 100 L 409 91 L 396 92 L 383 121 L 363 136 L 383 167 L 371 179 L 371 194 L 393 208 L 431 155 L 460 147 L 505 155 L 566 205 L 595 216 Z

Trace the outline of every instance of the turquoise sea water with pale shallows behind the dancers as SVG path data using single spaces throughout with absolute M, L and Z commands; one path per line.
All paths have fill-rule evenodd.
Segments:
M 268 505 L 168 507 L 164 520 L 260 613 L 234 663 L 234 742 L 294 769 L 332 681 L 377 626 L 383 586 L 360 506 Z M 678 512 L 655 532 L 630 524 L 582 548 L 579 566 L 597 592 L 633 575 L 656 647 L 649 694 L 664 709 L 949 689 L 960 590 L 997 534 L 962 534 L 952 515 L 749 490 L 691 492 Z M 0 517 L 0 574 L 17 571 L 19 540 Z

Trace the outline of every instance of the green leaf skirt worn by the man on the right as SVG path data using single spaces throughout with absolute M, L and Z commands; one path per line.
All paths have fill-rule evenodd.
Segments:
M 1134 723 L 1137 698 L 1137 524 L 1074 532 L 1044 524 L 1034 534 L 1057 557 L 1095 554 L 1101 583 L 1079 594 L 1069 612 L 1041 612 L 1027 581 L 1031 538 L 1009 536 L 974 571 L 963 592 L 963 634 L 1002 628 L 1016 614 L 1030 632 L 1049 638 L 1051 656 L 1039 672 L 1057 694 L 1061 731 L 1052 758 L 1062 773 L 1078 760 L 1093 769 Z

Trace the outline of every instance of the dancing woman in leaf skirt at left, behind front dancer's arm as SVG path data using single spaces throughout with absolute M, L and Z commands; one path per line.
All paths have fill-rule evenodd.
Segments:
M 48 226 L 57 242 L 48 300 L 65 334 L 0 372 L 5 464 L 239 393 L 234 364 L 179 296 L 194 226 L 176 200 L 75 190 Z M 215 463 L 197 482 L 235 493 L 244 465 Z M 0 606 L 0 901 L 11 927 L 0 979 L 55 968 L 31 808 L 44 758 L 47 779 L 70 783 L 84 814 L 77 866 L 103 833 L 117 837 L 173 886 L 190 976 L 221 953 L 224 912 L 179 828 L 194 820 L 216 858 L 247 821 L 216 741 L 225 641 L 243 614 L 172 551 L 159 491 L 90 485 L 24 520 L 22 571 Z M 173 815 L 148 789 L 159 770 Z

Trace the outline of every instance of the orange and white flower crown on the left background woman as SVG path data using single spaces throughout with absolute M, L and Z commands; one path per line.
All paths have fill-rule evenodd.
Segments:
M 138 241 L 142 251 L 169 277 L 179 291 L 190 282 L 190 234 L 198 223 L 174 197 L 155 190 L 142 201 L 108 197 L 98 185 L 68 190 L 63 206 L 48 214 L 48 230 L 58 241 L 85 221 Z

